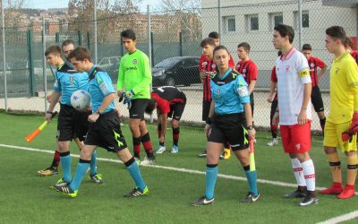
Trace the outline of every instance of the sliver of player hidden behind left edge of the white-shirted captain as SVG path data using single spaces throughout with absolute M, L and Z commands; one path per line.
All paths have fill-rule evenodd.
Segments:
M 281 56 L 281 55 L 282 55 L 281 51 L 278 51 L 277 56 Z M 272 140 L 267 143 L 268 146 L 274 146 L 274 145 L 277 145 L 277 143 L 278 143 L 278 140 L 277 140 L 278 124 L 277 124 L 277 121 L 273 120 L 273 117 L 277 110 L 277 104 L 278 104 L 276 85 L 277 85 L 277 74 L 276 74 L 276 66 L 274 66 L 271 71 L 271 85 L 270 85 L 269 93 L 268 93 L 268 102 L 271 104 L 271 110 L 269 113 L 269 127 L 270 127 L 271 134 L 272 134 Z M 274 93 L 275 93 L 275 95 L 274 95 Z

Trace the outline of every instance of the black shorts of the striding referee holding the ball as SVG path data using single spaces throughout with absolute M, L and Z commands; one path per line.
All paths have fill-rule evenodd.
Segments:
M 87 145 L 97 145 L 107 151 L 122 151 L 127 148 L 124 135 L 121 131 L 119 117 L 114 110 L 99 116 L 95 123 L 90 123 L 87 138 L 84 141 Z

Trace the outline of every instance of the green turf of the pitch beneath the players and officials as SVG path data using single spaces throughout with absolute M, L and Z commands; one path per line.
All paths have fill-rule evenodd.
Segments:
M 56 120 L 47 125 L 33 142 L 23 140 L 42 120 L 42 116 L 0 113 L 0 143 L 53 150 Z M 132 149 L 128 125 L 123 126 L 123 131 Z M 154 125 L 149 125 L 149 132 L 156 148 L 158 139 Z M 166 147 L 170 148 L 170 130 L 167 136 Z M 260 133 L 257 137 L 255 157 L 258 177 L 294 184 L 290 160 L 281 146 L 266 146 L 268 137 L 268 133 Z M 165 152 L 158 155 L 158 165 L 205 170 L 206 160 L 197 158 L 206 146 L 201 128 L 182 127 L 179 146 L 178 154 Z M 71 151 L 78 154 L 74 143 Z M 116 158 L 114 153 L 103 149 L 98 149 L 98 157 Z M 331 177 L 321 137 L 313 138 L 311 157 L 315 162 L 317 186 L 330 185 Z M 282 198 L 294 188 L 259 184 L 260 201 L 244 204 L 239 200 L 248 192 L 247 183 L 218 178 L 215 205 L 195 208 L 189 204 L 204 194 L 204 175 L 153 167 L 141 167 L 142 176 L 149 185 L 149 195 L 127 199 L 122 195 L 132 190 L 132 179 L 123 164 L 106 161 L 98 161 L 98 170 L 106 184 L 95 185 L 89 177 L 85 177 L 77 198 L 71 199 L 49 189 L 48 186 L 55 183 L 58 176 L 36 176 L 37 170 L 48 167 L 51 160 L 52 154 L 49 153 L 0 147 L 1 223 L 316 223 L 354 211 L 358 202 L 357 197 L 337 200 L 334 196 L 320 196 L 318 205 L 300 208 L 299 200 Z M 72 159 L 72 172 L 77 161 L 77 158 Z M 342 162 L 345 164 L 345 159 Z M 345 168 L 343 170 L 345 174 Z M 234 157 L 220 161 L 219 173 L 244 177 L 243 168 Z M 348 223 L 354 223 L 354 220 Z

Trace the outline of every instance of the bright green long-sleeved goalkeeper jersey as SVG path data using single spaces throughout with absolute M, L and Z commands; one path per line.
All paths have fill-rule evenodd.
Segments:
M 133 90 L 133 99 L 150 99 L 151 79 L 149 58 L 141 50 L 121 58 L 117 90 Z

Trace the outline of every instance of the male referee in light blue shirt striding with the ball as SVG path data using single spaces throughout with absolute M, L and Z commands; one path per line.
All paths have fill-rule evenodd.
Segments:
M 90 165 L 91 154 L 97 147 L 113 151 L 124 162 L 135 188 L 125 197 L 136 197 L 149 194 L 148 186 L 141 177 L 137 162 L 127 148 L 121 131 L 119 117 L 115 113 L 115 89 L 109 75 L 90 61 L 90 51 L 86 47 L 76 47 L 69 56 L 72 65 L 79 72 L 88 73 L 89 92 L 92 114 L 88 116 L 90 129 L 81 150 L 80 161 L 69 185 L 54 185 L 55 190 L 71 197 L 76 197 L 83 176 Z

